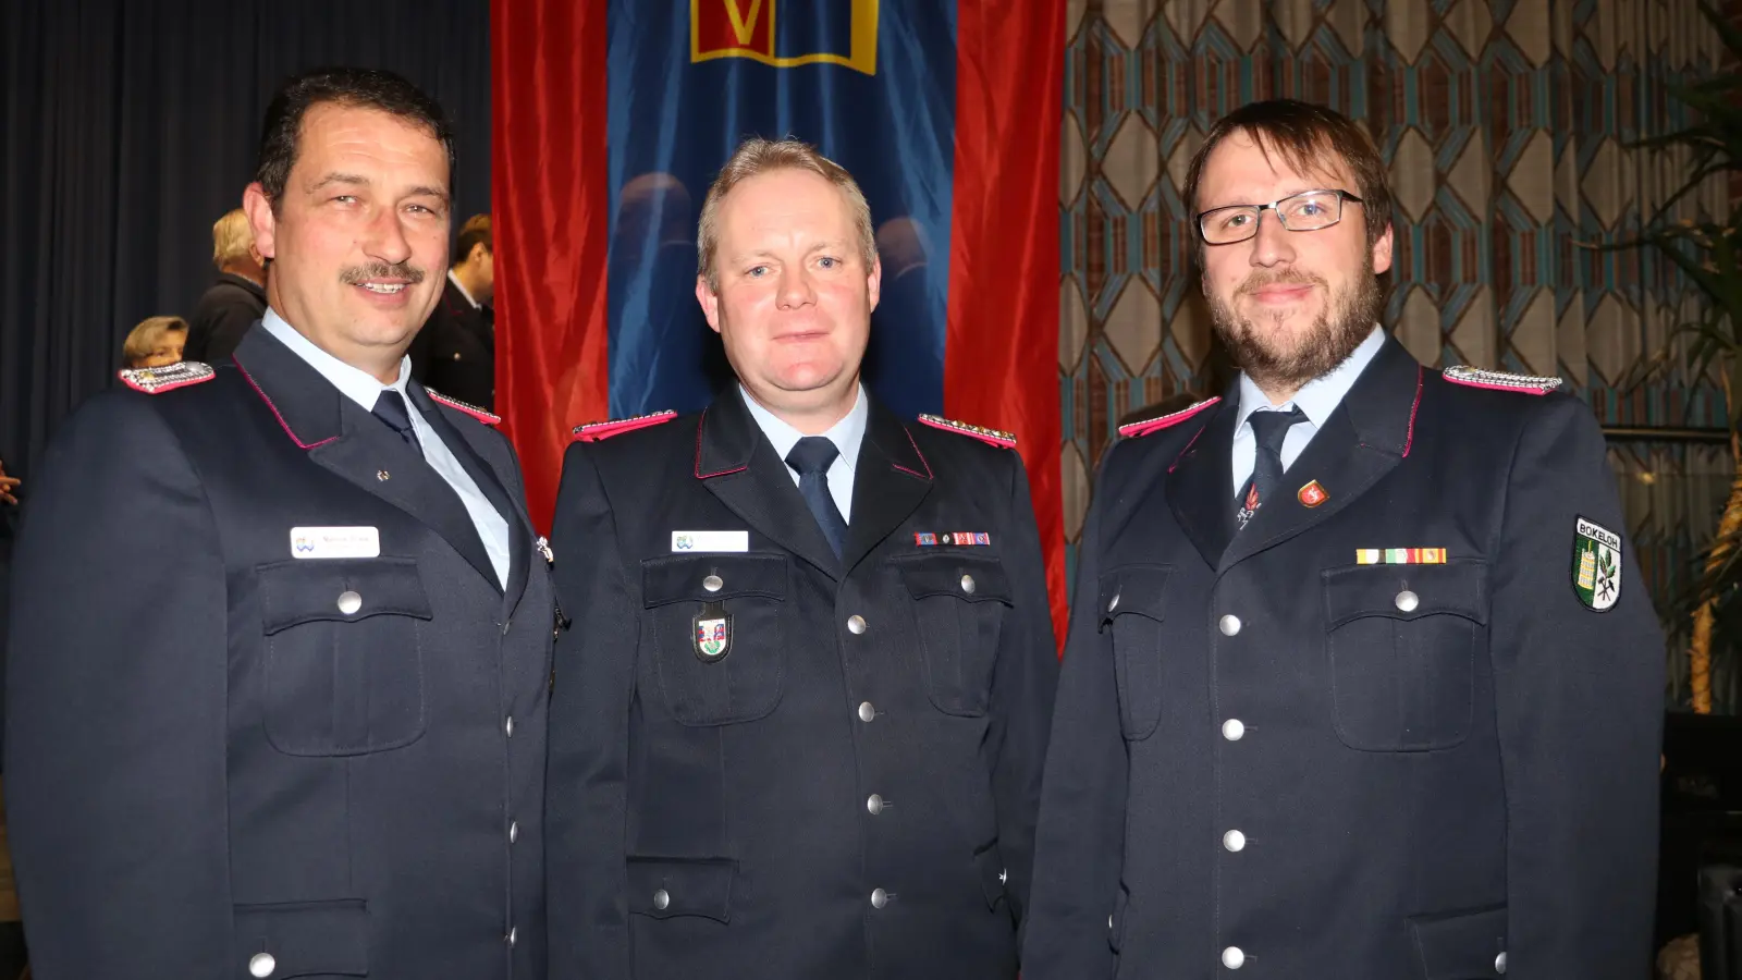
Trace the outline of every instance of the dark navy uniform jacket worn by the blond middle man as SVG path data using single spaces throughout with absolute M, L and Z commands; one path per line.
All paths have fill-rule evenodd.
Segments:
M 571 446 L 552 544 L 552 977 L 1016 977 L 1057 656 L 1014 452 L 873 401 L 836 561 L 733 392 Z

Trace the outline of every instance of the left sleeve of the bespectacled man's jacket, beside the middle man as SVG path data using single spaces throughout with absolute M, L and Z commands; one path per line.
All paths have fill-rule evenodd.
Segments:
M 1035 893 L 1023 942 L 1026 980 L 1111 977 L 1115 966 L 1108 933 L 1125 858 L 1127 753 L 1097 609 L 1101 500 L 1113 499 L 1108 481 L 1103 467 L 1077 549 L 1071 628 L 1040 792 Z

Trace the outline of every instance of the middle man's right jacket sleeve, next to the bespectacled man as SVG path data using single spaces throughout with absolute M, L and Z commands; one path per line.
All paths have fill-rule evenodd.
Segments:
M 1005 455 L 1012 460 L 1005 563 L 1010 568 L 1014 609 L 1000 631 L 993 673 L 991 734 L 998 745 L 993 799 L 998 813 L 998 854 L 1009 875 L 1005 893 L 1021 922 L 1033 881 L 1040 772 L 1047 760 L 1052 698 L 1059 682 L 1059 647 L 1052 633 L 1047 565 L 1040 553 L 1028 473 L 1021 457 L 1014 452 Z

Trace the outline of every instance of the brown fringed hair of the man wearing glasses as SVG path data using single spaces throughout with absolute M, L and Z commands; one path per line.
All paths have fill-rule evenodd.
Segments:
M 1361 197 L 1361 206 L 1367 214 L 1367 248 L 1373 248 L 1373 242 L 1380 241 L 1380 235 L 1390 227 L 1392 192 L 1385 187 L 1385 160 L 1380 159 L 1373 136 L 1336 110 L 1298 99 L 1268 99 L 1240 106 L 1221 117 L 1192 157 L 1192 167 L 1186 171 L 1185 204 L 1192 220 L 1193 255 L 1198 265 L 1204 265 L 1204 235 L 1197 230 L 1198 185 L 1204 180 L 1205 160 L 1230 133 L 1249 134 L 1266 159 L 1270 153 L 1279 153 L 1287 166 L 1300 173 L 1322 171 L 1331 159 L 1341 157 L 1350 176 L 1355 178 L 1355 195 Z M 1263 202 L 1252 201 L 1251 204 Z

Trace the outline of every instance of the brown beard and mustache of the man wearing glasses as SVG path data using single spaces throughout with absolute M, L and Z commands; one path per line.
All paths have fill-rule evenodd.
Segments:
M 1319 319 L 1293 350 L 1265 345 L 1251 319 L 1235 314 L 1233 307 L 1212 296 L 1205 288 L 1204 295 L 1209 298 L 1216 337 L 1259 391 L 1300 391 L 1306 382 L 1334 371 L 1338 364 L 1347 361 L 1355 347 L 1361 347 L 1361 342 L 1373 333 L 1373 324 L 1380 321 L 1385 291 L 1380 289 L 1380 279 L 1373 274 L 1373 258 L 1367 256 L 1362 265 L 1355 284 L 1345 293 L 1331 296 L 1329 307 L 1319 314 Z M 1324 279 L 1300 272 L 1254 272 L 1235 295 L 1277 282 L 1312 282 L 1327 288 Z

